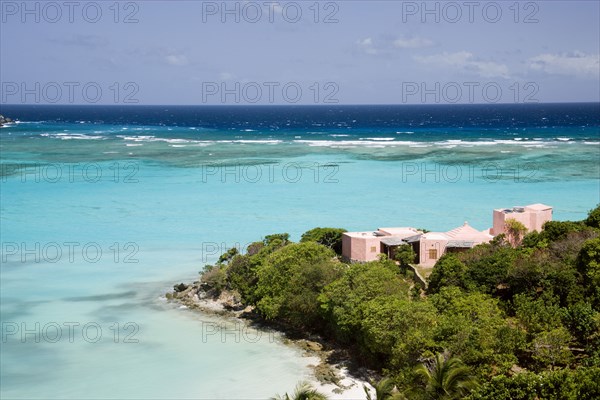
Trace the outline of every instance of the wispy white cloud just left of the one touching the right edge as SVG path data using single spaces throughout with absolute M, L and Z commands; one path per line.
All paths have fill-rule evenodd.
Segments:
M 414 56 L 414 59 L 422 64 L 439 67 L 450 67 L 463 72 L 472 72 L 484 78 L 509 78 L 508 67 L 493 61 L 481 61 L 476 59 L 468 51 L 456 53 L 443 52 L 431 56 Z

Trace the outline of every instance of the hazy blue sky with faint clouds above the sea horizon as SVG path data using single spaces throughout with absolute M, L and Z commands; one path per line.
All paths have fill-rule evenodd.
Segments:
M 600 101 L 600 1 L 0 0 L 0 104 Z

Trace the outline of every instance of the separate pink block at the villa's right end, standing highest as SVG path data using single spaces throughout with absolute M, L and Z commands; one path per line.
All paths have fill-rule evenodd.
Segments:
M 552 221 L 552 207 L 538 203 L 525 207 L 498 208 L 494 210 L 494 225 L 490 233 L 494 236 L 506 233 L 508 219 L 525 225 L 527 232 L 540 232 L 545 222 Z

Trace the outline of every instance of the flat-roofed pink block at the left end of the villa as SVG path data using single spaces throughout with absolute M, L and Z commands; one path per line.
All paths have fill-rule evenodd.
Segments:
M 346 232 L 342 235 L 342 257 L 348 261 L 377 260 L 379 254 L 390 255 L 393 247 L 407 238 L 421 235 L 415 228 L 379 228 L 376 231 Z

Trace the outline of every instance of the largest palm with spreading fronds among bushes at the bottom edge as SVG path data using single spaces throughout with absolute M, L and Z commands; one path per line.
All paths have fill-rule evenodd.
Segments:
M 425 381 L 425 395 L 434 400 L 461 399 L 477 387 L 469 368 L 447 354 L 436 354 L 428 365 L 415 368 L 415 373 Z

